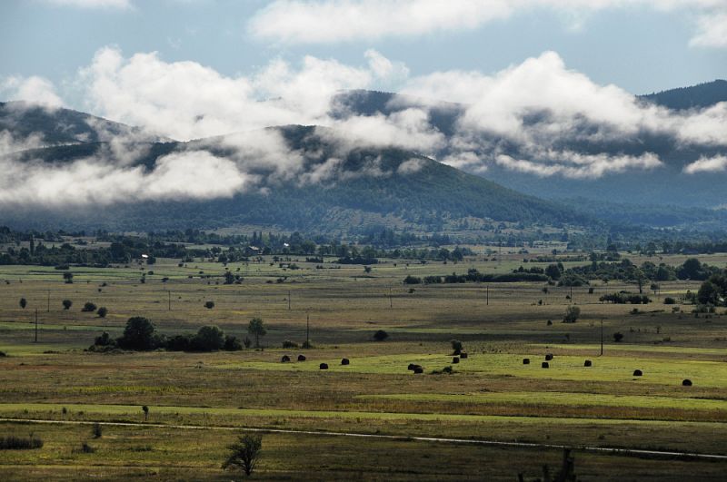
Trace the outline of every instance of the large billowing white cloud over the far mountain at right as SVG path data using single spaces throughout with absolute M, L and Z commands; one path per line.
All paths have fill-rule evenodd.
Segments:
M 675 113 L 642 103 L 615 85 L 595 84 L 568 69 L 553 52 L 493 75 L 423 75 L 410 79 L 403 92 L 463 104 L 443 162 L 470 172 L 483 172 L 491 162 L 520 172 L 568 177 L 652 169 L 661 162 L 649 152 L 585 155 L 563 148 L 568 143 L 638 144 L 646 133 L 680 145 L 727 146 L 727 103 Z

